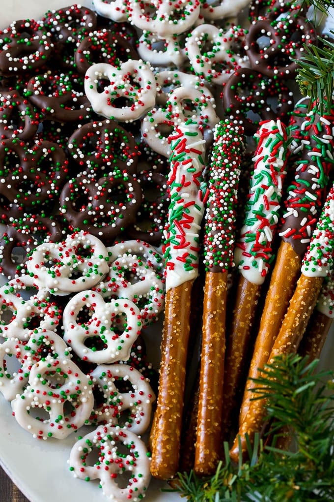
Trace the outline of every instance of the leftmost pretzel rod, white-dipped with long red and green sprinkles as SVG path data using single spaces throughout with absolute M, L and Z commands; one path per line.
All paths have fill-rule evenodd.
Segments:
M 197 122 L 171 135 L 170 206 L 163 251 L 166 306 L 157 410 L 151 430 L 152 475 L 172 478 L 179 464 L 191 290 L 198 275 L 199 230 L 204 213 L 201 175 L 205 142 Z

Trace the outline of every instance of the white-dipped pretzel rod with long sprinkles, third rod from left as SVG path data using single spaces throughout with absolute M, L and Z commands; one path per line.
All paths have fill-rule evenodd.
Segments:
M 240 271 L 225 357 L 224 428 L 241 385 L 256 307 L 272 261 L 282 182 L 286 174 L 286 131 L 278 120 L 261 122 L 257 134 L 246 216 L 235 248 Z

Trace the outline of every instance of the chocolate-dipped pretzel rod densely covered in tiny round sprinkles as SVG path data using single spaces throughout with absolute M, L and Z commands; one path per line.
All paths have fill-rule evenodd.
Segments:
M 204 309 L 194 470 L 212 474 L 221 454 L 227 273 L 233 266 L 235 208 L 243 127 L 229 119 L 214 130 L 205 215 Z

